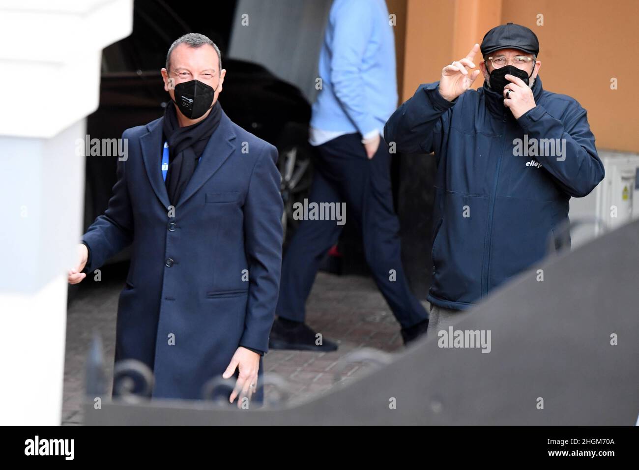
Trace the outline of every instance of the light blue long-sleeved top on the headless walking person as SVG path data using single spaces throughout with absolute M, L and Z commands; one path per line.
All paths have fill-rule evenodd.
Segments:
M 319 77 L 322 90 L 312 107 L 311 144 L 353 132 L 379 142 L 397 108 L 394 37 L 383 0 L 335 1 Z M 370 150 L 374 153 L 373 146 Z

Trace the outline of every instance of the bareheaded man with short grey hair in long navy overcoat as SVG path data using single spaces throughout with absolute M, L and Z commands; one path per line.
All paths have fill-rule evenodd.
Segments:
M 118 302 L 116 361 L 153 370 L 154 398 L 203 397 L 237 380 L 257 390 L 279 291 L 277 150 L 235 125 L 218 100 L 226 70 L 206 36 L 176 40 L 162 69 L 164 117 L 127 129 L 128 155 L 104 215 L 82 237 L 78 283 L 132 244 Z M 259 398 L 261 393 L 255 396 Z

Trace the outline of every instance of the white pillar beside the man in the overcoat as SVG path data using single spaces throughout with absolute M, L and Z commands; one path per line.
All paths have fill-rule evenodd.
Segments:
M 132 0 L 0 3 L 0 425 L 59 425 L 66 270 L 82 230 L 85 118 Z

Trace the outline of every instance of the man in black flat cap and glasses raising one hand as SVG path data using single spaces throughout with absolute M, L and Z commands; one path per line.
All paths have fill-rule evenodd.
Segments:
M 527 27 L 494 27 L 384 127 L 398 152 L 437 160 L 429 330 L 541 260 L 570 198 L 603 179 L 585 109 L 543 89 L 538 55 Z M 480 72 L 484 86 L 472 90 Z

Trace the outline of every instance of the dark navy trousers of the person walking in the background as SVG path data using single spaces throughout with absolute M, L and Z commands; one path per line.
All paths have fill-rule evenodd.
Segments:
M 366 157 L 360 134 L 346 134 L 318 146 L 309 204 L 346 203 L 346 223 L 362 233 L 366 262 L 403 328 L 428 318 L 410 292 L 401 263 L 399 221 L 393 208 L 390 153 L 381 139 L 373 159 Z M 343 225 L 335 220 L 303 220 L 282 262 L 277 315 L 304 322 L 305 303 L 319 263 L 337 243 Z

